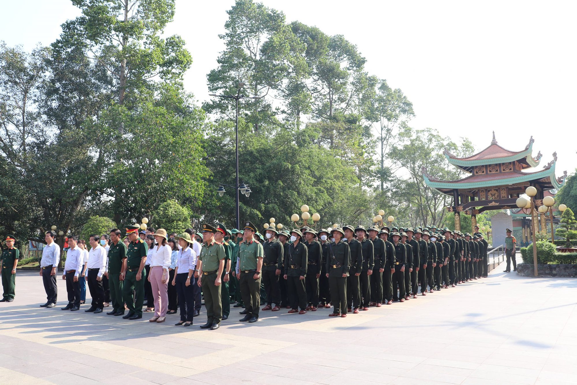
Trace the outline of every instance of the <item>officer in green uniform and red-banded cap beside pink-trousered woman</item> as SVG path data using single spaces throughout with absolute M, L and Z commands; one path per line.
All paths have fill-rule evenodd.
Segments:
M 144 281 L 147 244 L 138 237 L 138 226 L 126 226 L 126 237 L 130 243 L 126 251 L 126 270 L 122 272 L 122 297 L 128 314 L 123 319 L 136 320 L 143 317 Z

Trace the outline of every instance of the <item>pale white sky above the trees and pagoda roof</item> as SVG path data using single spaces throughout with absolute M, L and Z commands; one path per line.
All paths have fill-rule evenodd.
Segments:
M 78 15 L 69 0 L 0 1 L 0 40 L 31 49 L 57 39 Z M 415 128 L 469 137 L 475 149 L 494 130 L 520 151 L 533 135 L 541 165 L 557 151 L 556 174 L 577 167 L 577 2 L 575 1 L 314 1 L 264 0 L 287 21 L 316 25 L 357 44 L 370 74 L 401 88 L 413 102 Z M 206 74 L 224 45 L 234 0 L 177 0 L 167 33 L 192 53 L 185 87 L 208 98 Z

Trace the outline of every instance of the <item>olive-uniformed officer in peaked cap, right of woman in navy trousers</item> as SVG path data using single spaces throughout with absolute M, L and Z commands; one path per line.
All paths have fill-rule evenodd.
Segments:
M 204 306 L 207 308 L 207 323 L 201 329 L 216 330 L 222 320 L 222 297 L 220 285 L 224 270 L 226 252 L 224 246 L 215 241 L 216 229 L 208 223 L 203 224 L 203 246 L 200 249 L 198 267 L 198 286 L 203 288 Z

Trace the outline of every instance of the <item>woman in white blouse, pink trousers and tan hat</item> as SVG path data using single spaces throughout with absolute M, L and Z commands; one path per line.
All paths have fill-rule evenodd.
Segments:
M 164 322 L 168 309 L 168 267 L 170 267 L 170 255 L 172 250 L 168 246 L 166 230 L 158 229 L 153 234 L 156 245 L 149 250 L 150 274 L 148 281 L 152 287 L 152 297 L 154 298 L 154 316 L 150 322 Z

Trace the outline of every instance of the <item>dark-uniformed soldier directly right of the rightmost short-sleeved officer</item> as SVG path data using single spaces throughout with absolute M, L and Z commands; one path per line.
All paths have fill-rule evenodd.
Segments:
M 284 248 L 276 239 L 278 233 L 274 226 L 270 226 L 264 234 L 267 240 L 263 245 L 263 285 L 267 293 L 267 305 L 264 306 L 263 311 L 278 312 L 280 310 L 279 276 L 284 259 Z

